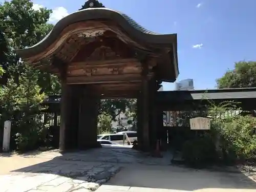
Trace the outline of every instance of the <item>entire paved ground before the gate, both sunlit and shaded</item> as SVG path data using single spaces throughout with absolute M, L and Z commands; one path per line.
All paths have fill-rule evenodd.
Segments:
M 0 191 L 206 192 L 205 189 L 222 188 L 245 192 L 245 189 L 256 189 L 256 183 L 244 174 L 176 167 L 170 165 L 169 154 L 164 157 L 152 158 L 134 150 L 111 148 L 63 155 L 57 151 L 22 156 L 0 154 Z

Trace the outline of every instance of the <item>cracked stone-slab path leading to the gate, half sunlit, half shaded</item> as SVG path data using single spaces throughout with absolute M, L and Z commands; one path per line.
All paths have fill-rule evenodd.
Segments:
M 11 161 L 12 157 L 2 158 L 10 158 Z M 63 155 L 50 151 L 26 154 L 23 158 L 42 158 L 48 161 L 0 175 L 1 192 L 91 191 L 127 164 L 170 164 L 170 157 L 157 159 L 134 150 L 116 148 L 98 148 Z

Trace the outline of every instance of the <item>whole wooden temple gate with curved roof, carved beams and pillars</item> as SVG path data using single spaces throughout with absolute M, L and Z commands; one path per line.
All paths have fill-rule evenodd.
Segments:
M 156 94 L 179 74 L 177 35 L 148 31 L 95 0 L 61 19 L 38 44 L 16 53 L 61 80 L 61 151 L 97 147 L 100 99 L 137 98 L 138 143 L 156 145 Z

